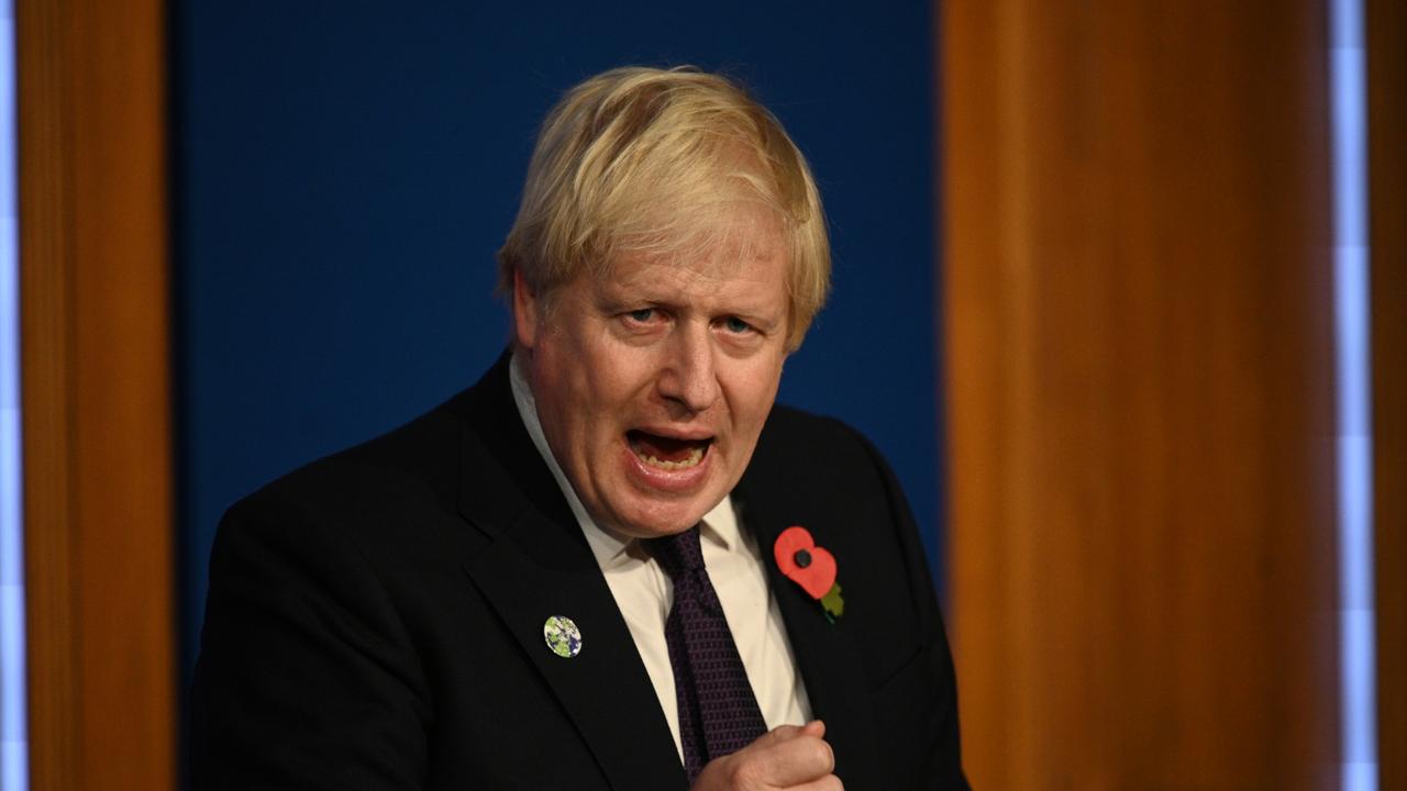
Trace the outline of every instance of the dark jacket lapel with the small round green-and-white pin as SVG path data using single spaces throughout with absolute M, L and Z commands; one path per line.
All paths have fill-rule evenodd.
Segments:
M 507 359 L 456 405 L 478 439 L 464 443 L 460 512 L 491 539 L 464 571 L 612 788 L 682 788 L 684 768 L 654 687 L 581 528 L 518 417 Z M 577 656 L 547 647 L 543 625 L 553 615 L 571 618 L 581 631 Z

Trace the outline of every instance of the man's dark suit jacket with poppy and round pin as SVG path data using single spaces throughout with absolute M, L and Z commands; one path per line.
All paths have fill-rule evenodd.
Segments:
M 875 449 L 777 407 L 733 498 L 847 788 L 964 788 L 941 618 Z M 837 559 L 836 624 L 771 560 L 791 525 Z M 547 649 L 550 615 L 575 621 L 578 656 Z M 197 788 L 687 787 L 507 357 L 415 422 L 229 510 L 190 736 Z

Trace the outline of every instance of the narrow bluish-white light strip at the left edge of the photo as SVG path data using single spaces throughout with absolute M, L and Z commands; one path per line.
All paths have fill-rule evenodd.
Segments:
M 0 791 L 30 787 L 14 135 L 14 4 L 0 0 Z

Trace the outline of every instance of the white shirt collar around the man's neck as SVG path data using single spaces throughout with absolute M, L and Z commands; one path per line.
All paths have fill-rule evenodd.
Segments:
M 508 365 L 508 383 L 514 393 L 514 404 L 518 407 L 518 417 L 522 418 L 523 428 L 528 429 L 528 436 L 532 438 L 532 443 L 542 456 L 542 460 L 552 470 L 552 477 L 557 481 L 557 488 L 567 498 L 567 505 L 571 507 L 571 514 L 577 518 L 581 532 L 587 536 L 587 545 L 591 546 L 591 553 L 595 555 L 597 564 L 605 570 L 629 563 L 630 560 L 643 560 L 644 552 L 637 546 L 639 540 L 619 535 L 597 524 L 591 518 L 591 514 L 587 512 L 585 505 L 581 504 L 577 491 L 571 488 L 571 481 L 561 472 L 556 456 L 552 455 L 552 446 L 547 445 L 547 435 L 542 431 L 542 421 L 537 418 L 537 401 L 533 398 L 532 387 L 528 384 L 528 376 L 522 370 L 522 360 L 516 349 L 514 349 L 512 360 Z M 722 548 L 725 552 L 733 552 L 741 545 L 737 529 L 737 514 L 733 511 L 732 497 L 725 497 L 712 511 L 704 515 L 699 536 Z

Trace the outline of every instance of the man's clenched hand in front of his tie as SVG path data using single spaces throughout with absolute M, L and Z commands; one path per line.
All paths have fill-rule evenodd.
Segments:
M 711 760 L 692 791 L 841 791 L 826 723 L 782 725 L 741 750 Z

